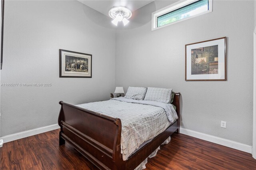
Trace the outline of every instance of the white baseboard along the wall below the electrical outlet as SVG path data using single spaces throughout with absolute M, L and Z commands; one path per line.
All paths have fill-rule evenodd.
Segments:
M 239 143 L 239 142 L 234 142 L 232 140 L 227 140 L 227 139 L 219 138 L 219 137 L 212 136 L 212 135 L 209 135 L 209 134 L 196 132 L 194 130 L 188 130 L 186 128 L 180 128 L 180 133 L 186 134 L 188 136 L 193 136 L 195 138 L 199 138 L 199 139 L 202 139 L 202 140 L 206 140 L 206 141 L 209 141 L 209 142 L 213 142 L 213 143 L 216 143 L 216 144 L 220 144 L 220 145 L 223 145 L 223 146 L 227 146 L 227 147 L 230 147 L 230 148 L 234 148 L 234 149 L 237 149 L 237 150 L 241 150 L 241 151 L 244 151 L 244 152 L 247 152 L 247 153 L 250 153 L 250 154 L 252 153 L 252 146 L 247 145 L 247 144 L 242 144 L 242 143 Z

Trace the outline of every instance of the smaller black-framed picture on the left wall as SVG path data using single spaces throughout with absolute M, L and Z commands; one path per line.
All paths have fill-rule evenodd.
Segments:
M 60 77 L 92 77 L 92 55 L 60 49 Z

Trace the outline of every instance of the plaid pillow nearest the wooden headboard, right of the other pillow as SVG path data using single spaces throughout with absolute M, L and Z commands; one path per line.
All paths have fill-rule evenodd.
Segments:
M 144 100 L 170 103 L 172 89 L 148 87 Z

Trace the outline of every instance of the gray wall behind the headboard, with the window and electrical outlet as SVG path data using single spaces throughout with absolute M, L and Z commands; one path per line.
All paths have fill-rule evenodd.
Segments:
M 182 128 L 252 145 L 254 2 L 214 0 L 211 13 L 151 31 L 151 13 L 167 3 L 140 8 L 137 27 L 117 31 L 116 86 L 172 88 Z M 185 44 L 224 36 L 228 80 L 186 82 Z

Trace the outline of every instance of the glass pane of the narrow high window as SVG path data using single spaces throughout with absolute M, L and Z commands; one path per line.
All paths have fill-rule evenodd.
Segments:
M 157 27 L 208 11 L 208 0 L 199 0 L 177 10 L 157 17 Z

